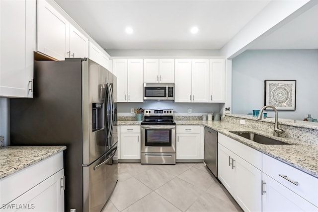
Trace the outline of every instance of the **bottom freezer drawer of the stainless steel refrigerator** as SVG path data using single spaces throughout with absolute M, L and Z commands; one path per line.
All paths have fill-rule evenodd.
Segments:
M 89 166 L 83 167 L 83 212 L 100 212 L 113 192 L 118 179 L 114 163 L 117 145 Z

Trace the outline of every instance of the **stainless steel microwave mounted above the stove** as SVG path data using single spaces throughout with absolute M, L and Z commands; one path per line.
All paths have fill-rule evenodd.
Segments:
M 144 100 L 174 100 L 174 83 L 144 83 Z

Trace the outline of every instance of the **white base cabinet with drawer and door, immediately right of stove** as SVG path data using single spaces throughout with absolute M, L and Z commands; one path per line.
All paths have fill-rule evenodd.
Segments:
M 200 126 L 176 126 L 176 159 L 200 159 Z

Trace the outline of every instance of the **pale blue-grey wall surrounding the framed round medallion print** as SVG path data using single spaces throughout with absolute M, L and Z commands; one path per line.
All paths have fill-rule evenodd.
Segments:
M 296 110 L 279 111 L 279 118 L 318 118 L 318 50 L 248 50 L 234 58 L 232 113 L 248 114 L 264 106 L 265 79 L 297 80 Z

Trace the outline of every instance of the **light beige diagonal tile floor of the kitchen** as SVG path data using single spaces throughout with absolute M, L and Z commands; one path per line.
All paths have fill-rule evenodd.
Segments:
M 103 212 L 242 212 L 204 163 L 119 163 Z

